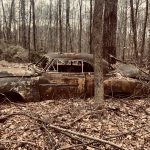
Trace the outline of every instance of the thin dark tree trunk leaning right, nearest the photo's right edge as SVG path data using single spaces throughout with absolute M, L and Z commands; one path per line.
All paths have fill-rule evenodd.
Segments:
M 144 49 L 145 49 L 145 34 L 146 34 L 147 20 L 148 20 L 148 0 L 146 0 L 145 20 L 144 20 L 142 44 L 141 44 L 141 51 L 140 51 L 140 53 L 141 53 L 140 62 L 141 63 L 143 61 L 143 55 L 144 55 Z

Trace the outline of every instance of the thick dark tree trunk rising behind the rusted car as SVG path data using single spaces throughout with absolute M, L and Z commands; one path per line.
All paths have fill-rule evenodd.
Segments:
M 103 57 L 111 64 L 116 63 L 110 55 L 116 57 L 117 4 L 118 0 L 105 0 Z

